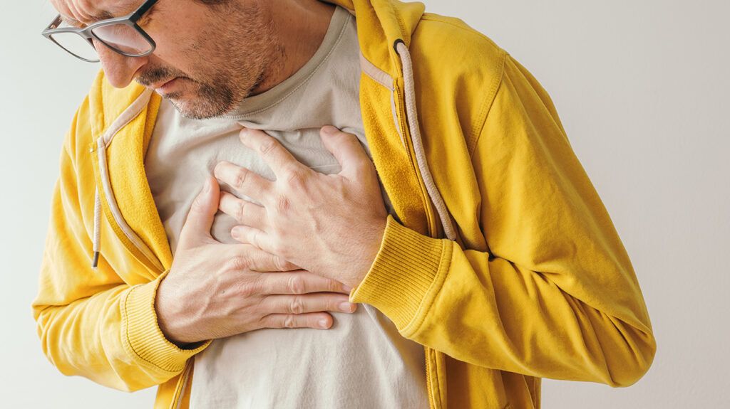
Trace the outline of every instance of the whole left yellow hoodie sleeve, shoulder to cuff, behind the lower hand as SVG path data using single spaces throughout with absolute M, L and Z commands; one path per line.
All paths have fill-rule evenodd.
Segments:
M 210 342 L 180 349 L 158 327 L 155 294 L 167 271 L 157 279 L 127 282 L 122 277 L 142 274 L 112 271 L 103 262 L 91 268 L 93 183 L 91 191 L 89 183 L 80 183 L 91 170 L 74 149 L 84 118 L 88 100 L 61 153 L 33 315 L 43 352 L 61 373 L 124 391 L 145 389 L 179 375 L 188 358 Z

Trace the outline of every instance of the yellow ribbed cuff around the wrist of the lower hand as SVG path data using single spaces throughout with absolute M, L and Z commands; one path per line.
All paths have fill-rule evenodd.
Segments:
M 155 295 L 161 280 L 169 273 L 165 271 L 155 281 L 131 288 L 122 306 L 126 342 L 134 354 L 161 370 L 178 373 L 185 368 L 185 362 L 201 352 L 211 341 L 195 349 L 180 349 L 162 333 L 157 322 Z

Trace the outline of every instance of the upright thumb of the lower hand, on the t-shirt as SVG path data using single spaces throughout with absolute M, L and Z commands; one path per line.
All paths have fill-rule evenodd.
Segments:
M 213 218 L 218 212 L 220 201 L 220 186 L 218 180 L 208 176 L 185 220 L 183 231 L 180 232 L 180 243 L 186 246 L 198 245 L 203 239 L 212 239 L 210 229 L 213 225 Z

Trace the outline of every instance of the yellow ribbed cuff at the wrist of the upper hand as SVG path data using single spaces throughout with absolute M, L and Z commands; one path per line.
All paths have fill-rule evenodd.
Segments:
M 350 302 L 368 303 L 406 330 L 437 292 L 434 283 L 446 273 L 451 252 L 449 240 L 419 234 L 388 215 L 380 250 Z

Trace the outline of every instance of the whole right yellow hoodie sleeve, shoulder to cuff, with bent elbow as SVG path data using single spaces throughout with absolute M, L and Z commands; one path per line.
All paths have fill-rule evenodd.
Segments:
M 472 166 L 488 252 L 388 216 L 350 300 L 456 360 L 528 376 L 634 384 L 656 341 L 621 240 L 547 92 L 512 57 Z M 447 193 L 445 193 L 447 194 Z

